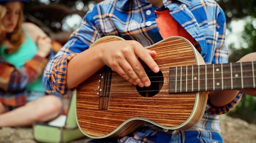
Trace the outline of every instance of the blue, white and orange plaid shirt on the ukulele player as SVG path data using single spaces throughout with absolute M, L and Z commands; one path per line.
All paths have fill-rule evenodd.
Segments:
M 197 49 L 206 64 L 228 62 L 225 44 L 225 15 L 213 0 L 163 0 L 170 14 L 198 43 Z M 170 28 L 171 29 L 171 28 Z M 125 40 L 152 45 L 162 37 L 156 24 L 154 8 L 146 0 L 106 0 L 97 4 L 83 17 L 81 26 L 56 54 L 45 69 L 44 83 L 52 94 L 67 94 L 67 63 L 79 52 L 90 47 L 97 39 L 115 35 Z M 185 131 L 167 131 L 145 125 L 120 142 L 222 142 L 218 116 L 238 104 L 240 93 L 224 107 L 207 104 L 202 120 Z M 150 127 L 148 127 L 150 126 Z

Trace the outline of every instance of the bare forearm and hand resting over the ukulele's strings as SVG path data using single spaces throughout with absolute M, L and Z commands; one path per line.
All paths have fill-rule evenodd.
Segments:
M 138 58 L 144 61 L 154 72 L 158 72 L 159 68 L 152 59 L 152 56 L 155 55 L 155 51 L 146 50 L 136 41 L 120 40 L 96 45 L 77 54 L 69 62 L 67 88 L 76 87 L 104 65 L 109 66 L 130 83 L 138 84 L 140 87 L 148 87 L 150 80 Z M 88 58 L 85 59 L 84 57 Z

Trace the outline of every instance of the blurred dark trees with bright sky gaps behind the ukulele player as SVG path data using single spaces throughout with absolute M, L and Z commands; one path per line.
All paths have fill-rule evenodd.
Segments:
M 49 36 L 65 44 L 80 25 L 82 17 L 102 0 L 30 0 L 25 5 L 25 20 L 40 26 Z M 229 62 L 256 52 L 256 1 L 216 0 L 227 19 Z M 249 123 L 256 123 L 256 97 L 244 95 L 240 104 L 228 113 Z

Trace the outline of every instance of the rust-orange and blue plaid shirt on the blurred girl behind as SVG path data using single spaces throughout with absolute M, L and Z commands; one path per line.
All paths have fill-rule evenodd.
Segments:
M 22 68 L 15 68 L 0 57 L 0 101 L 9 106 L 26 103 L 26 87 L 38 78 L 48 60 L 35 55 Z M 8 94 L 7 94 L 8 93 Z

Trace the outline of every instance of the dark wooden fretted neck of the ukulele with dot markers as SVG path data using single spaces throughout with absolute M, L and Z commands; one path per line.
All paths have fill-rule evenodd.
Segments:
M 169 93 L 256 88 L 256 62 L 170 67 Z

